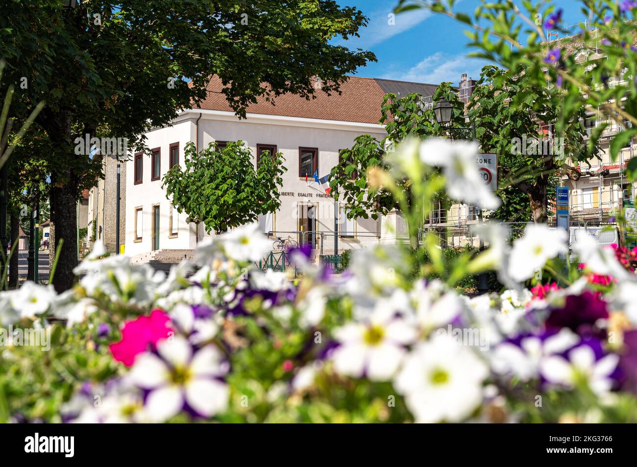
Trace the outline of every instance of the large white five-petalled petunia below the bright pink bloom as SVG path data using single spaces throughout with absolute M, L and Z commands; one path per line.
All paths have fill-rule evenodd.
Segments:
M 157 353 L 138 356 L 130 373 L 134 384 L 150 390 L 145 410 L 152 421 L 174 417 L 185 403 L 204 417 L 227 408 L 228 387 L 217 379 L 227 368 L 215 347 L 208 345 L 193 355 L 187 340 L 177 336 L 159 342 Z

